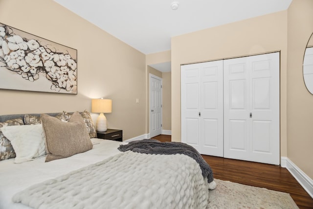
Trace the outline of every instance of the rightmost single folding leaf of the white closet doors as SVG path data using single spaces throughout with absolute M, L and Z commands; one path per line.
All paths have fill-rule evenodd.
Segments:
M 251 161 L 280 164 L 279 52 L 251 56 L 249 158 Z

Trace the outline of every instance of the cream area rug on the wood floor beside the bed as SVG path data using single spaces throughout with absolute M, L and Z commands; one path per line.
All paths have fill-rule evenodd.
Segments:
M 298 209 L 288 193 L 215 179 L 206 209 Z

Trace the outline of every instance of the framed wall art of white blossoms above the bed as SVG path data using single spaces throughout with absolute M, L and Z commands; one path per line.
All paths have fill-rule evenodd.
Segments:
M 77 50 L 0 23 L 0 89 L 77 94 Z

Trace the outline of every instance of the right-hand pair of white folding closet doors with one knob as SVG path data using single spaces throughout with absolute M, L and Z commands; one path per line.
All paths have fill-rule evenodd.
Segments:
M 224 60 L 224 157 L 279 164 L 279 52 Z

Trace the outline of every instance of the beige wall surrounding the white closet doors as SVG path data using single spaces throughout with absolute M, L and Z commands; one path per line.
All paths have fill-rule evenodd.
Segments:
M 287 156 L 287 11 L 172 38 L 172 140 L 180 141 L 180 65 L 280 50 L 281 156 Z

